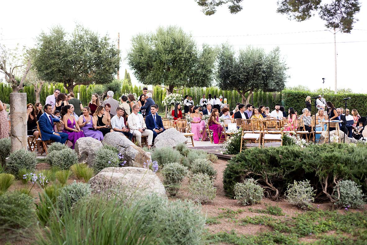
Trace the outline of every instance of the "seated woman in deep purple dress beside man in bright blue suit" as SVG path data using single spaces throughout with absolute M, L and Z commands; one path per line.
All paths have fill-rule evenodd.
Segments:
M 64 129 L 62 132 L 69 135 L 68 140 L 73 144 L 74 149 L 76 141 L 81 137 L 85 137 L 85 135 L 83 130 L 80 130 L 79 125 L 75 122 L 71 105 L 65 105 L 62 107 L 61 118 L 64 122 Z

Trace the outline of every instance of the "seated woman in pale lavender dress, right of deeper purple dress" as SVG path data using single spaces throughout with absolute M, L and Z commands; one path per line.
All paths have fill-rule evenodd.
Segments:
M 79 117 L 78 124 L 86 137 L 92 137 L 99 141 L 103 140 L 103 134 L 97 130 L 97 122 L 92 118 L 91 109 L 89 107 L 83 108 L 83 115 Z

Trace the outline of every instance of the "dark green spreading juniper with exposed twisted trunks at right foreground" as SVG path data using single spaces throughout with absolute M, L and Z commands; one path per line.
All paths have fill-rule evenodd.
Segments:
M 367 191 L 367 146 L 364 144 L 322 144 L 308 147 L 283 146 L 250 148 L 233 157 L 224 173 L 226 195 L 233 197 L 237 182 L 253 178 L 258 180 L 269 197 L 283 194 L 287 184 L 294 180 L 310 180 L 319 198 L 326 198 L 322 184 L 327 179 L 327 192 L 331 194 L 336 181 L 350 179 Z M 266 183 L 265 180 L 268 180 Z

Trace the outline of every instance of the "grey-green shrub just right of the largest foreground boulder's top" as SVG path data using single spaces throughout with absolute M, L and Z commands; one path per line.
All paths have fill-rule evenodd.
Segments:
M 187 167 L 177 163 L 168 163 L 162 169 L 163 184 L 170 195 L 175 196 L 179 190 L 183 178 L 188 174 Z

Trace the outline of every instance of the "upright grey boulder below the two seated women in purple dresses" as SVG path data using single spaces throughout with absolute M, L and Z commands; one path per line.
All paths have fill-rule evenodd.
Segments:
M 92 137 L 79 138 L 75 143 L 75 152 L 79 162 L 85 162 L 92 167 L 96 152 L 102 148 L 101 141 Z

